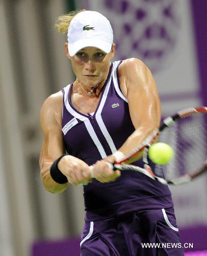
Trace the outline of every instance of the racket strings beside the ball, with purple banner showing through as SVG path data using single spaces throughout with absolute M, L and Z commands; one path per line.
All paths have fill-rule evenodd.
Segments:
M 207 114 L 178 119 L 161 132 L 159 141 L 173 148 L 174 158 L 167 165 L 156 165 L 156 175 L 163 172 L 165 179 L 172 180 L 197 172 L 207 160 Z

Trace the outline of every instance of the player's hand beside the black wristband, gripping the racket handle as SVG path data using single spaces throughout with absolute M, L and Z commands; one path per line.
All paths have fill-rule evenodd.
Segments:
M 70 155 L 62 157 L 58 163 L 58 169 L 67 177 L 69 183 L 75 186 L 87 181 L 92 182 L 89 166 L 77 157 Z

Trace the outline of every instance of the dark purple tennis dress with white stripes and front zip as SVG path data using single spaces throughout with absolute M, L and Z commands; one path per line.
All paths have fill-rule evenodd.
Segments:
M 93 114 L 84 115 L 73 107 L 73 84 L 62 89 L 66 151 L 88 165 L 117 151 L 135 131 L 120 88 L 120 64 L 111 64 Z M 133 164 L 143 167 L 142 160 Z M 142 248 L 141 244 L 181 243 L 168 186 L 141 173 L 123 171 L 115 182 L 93 179 L 84 186 L 84 201 L 82 256 L 183 255 L 182 249 Z

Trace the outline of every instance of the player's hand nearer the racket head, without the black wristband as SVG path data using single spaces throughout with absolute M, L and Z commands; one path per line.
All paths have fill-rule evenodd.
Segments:
M 109 168 L 106 162 L 114 163 L 115 157 L 110 155 L 101 161 L 97 161 L 93 165 L 93 176 L 101 183 L 109 183 L 111 181 L 115 181 L 118 177 L 121 176 L 121 172 L 119 170 L 113 171 L 111 168 Z

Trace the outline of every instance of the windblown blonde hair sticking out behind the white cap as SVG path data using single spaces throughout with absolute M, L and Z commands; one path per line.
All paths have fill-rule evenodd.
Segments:
M 68 14 L 60 15 L 55 19 L 55 28 L 62 34 L 67 34 L 71 20 L 85 9 L 69 12 Z

